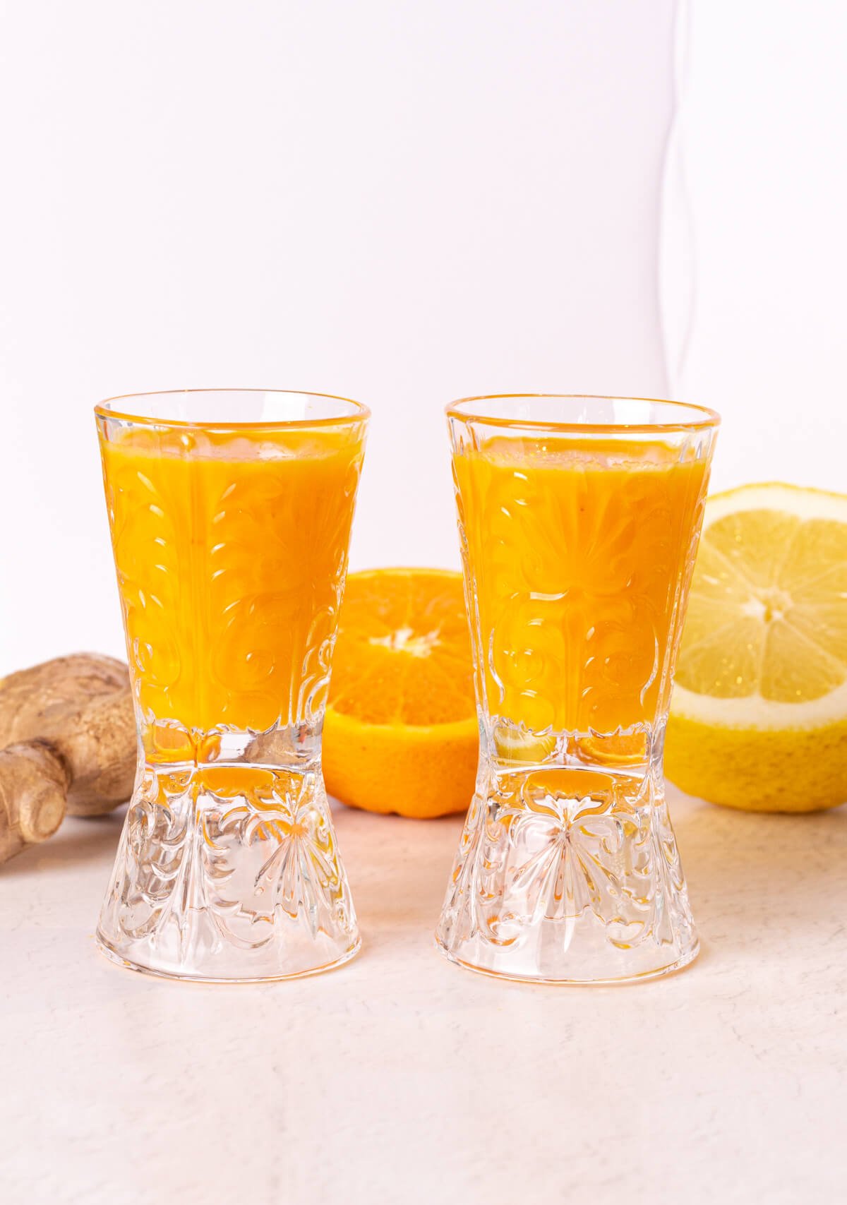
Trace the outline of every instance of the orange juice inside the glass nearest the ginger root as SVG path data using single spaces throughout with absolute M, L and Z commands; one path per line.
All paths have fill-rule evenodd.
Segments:
M 322 711 L 363 436 L 101 431 L 145 725 L 261 731 Z

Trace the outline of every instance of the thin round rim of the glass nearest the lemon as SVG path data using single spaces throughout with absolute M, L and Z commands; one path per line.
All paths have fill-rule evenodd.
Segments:
M 566 419 L 510 418 L 500 415 L 486 415 L 480 404 L 487 401 L 517 401 L 520 399 L 542 398 L 551 401 L 646 401 L 652 406 L 667 406 L 690 411 L 690 419 L 654 423 L 577 423 Z M 466 408 L 470 407 L 470 408 Z M 720 415 L 708 406 L 699 406 L 690 401 L 672 401 L 669 398 L 635 398 L 611 393 L 483 393 L 470 398 L 458 398 L 445 407 L 447 418 L 463 423 L 483 423 L 487 427 L 529 429 L 536 431 L 566 431 L 575 435 L 613 435 L 620 431 L 649 435 L 661 431 L 701 431 L 720 425 Z M 694 416 L 699 417 L 694 417 Z

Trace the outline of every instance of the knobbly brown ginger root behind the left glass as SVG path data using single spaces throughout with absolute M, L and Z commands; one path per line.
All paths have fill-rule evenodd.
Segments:
M 123 662 L 76 653 L 0 680 L 0 863 L 51 836 L 65 812 L 125 803 L 135 756 Z

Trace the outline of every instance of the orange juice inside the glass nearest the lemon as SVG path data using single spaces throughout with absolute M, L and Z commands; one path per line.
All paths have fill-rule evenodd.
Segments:
M 670 699 L 704 462 L 637 441 L 495 437 L 454 468 L 489 716 L 535 733 L 653 723 Z

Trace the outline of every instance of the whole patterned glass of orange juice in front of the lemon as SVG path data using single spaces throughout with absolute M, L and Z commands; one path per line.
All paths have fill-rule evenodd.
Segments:
M 661 756 L 718 417 L 539 395 L 447 415 L 480 766 L 436 941 L 510 978 L 675 970 L 698 939 Z

